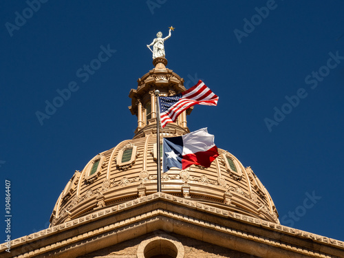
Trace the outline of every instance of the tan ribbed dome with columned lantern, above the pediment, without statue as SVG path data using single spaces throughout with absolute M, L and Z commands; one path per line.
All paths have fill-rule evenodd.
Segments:
M 133 139 L 98 153 L 82 171 L 75 171 L 54 206 L 51 226 L 158 191 L 153 92 L 159 89 L 162 95 L 168 96 L 185 90 L 184 80 L 166 68 L 166 64 L 165 58 L 155 58 L 155 68 L 138 79 L 137 89 L 131 89 L 129 109 L 131 114 L 138 116 Z M 189 133 L 186 114 L 191 110 L 160 129 L 160 138 Z M 162 173 L 162 192 L 279 223 L 275 204 L 250 166 L 243 166 L 225 149 L 218 149 L 218 152 L 219 156 L 208 168 L 192 165 L 185 170 L 173 168 Z

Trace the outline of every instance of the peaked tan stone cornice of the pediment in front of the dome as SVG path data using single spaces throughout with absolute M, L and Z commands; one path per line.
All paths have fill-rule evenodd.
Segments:
M 157 230 L 257 257 L 344 257 L 344 244 L 202 202 L 153 193 L 11 241 L 6 257 L 79 257 Z

